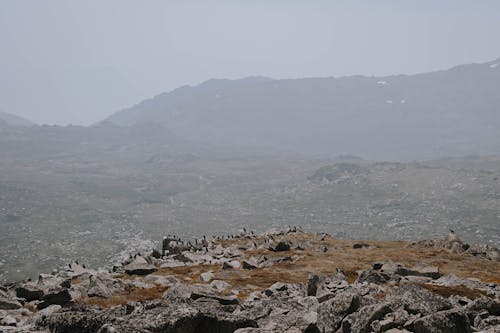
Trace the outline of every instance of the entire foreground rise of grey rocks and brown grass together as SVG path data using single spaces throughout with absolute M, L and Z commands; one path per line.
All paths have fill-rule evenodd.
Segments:
M 170 235 L 109 270 L 2 285 L 0 332 L 500 332 L 500 253 L 454 233 Z

